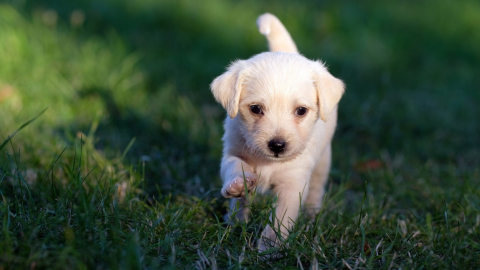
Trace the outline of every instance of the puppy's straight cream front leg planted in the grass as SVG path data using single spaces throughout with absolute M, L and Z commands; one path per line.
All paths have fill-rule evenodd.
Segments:
M 279 242 L 279 235 L 286 238 L 289 229 L 295 224 L 308 191 L 310 173 L 308 171 L 295 171 L 284 173 L 282 181 L 275 187 L 278 196 L 278 203 L 275 214 L 271 216 L 274 228 L 267 225 L 262 232 L 259 241 L 259 251 L 265 251 Z

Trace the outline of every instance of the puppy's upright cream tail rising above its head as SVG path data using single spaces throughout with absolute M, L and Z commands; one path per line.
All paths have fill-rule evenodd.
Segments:
M 270 13 L 258 17 L 257 26 L 260 33 L 267 37 L 271 52 L 298 53 L 297 46 L 282 22 Z

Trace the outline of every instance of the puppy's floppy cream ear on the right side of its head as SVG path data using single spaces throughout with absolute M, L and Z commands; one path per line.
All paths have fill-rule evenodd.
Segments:
M 314 65 L 313 79 L 320 104 L 320 118 L 327 121 L 328 115 L 345 92 L 345 85 L 341 80 L 333 77 L 322 63 L 317 61 Z

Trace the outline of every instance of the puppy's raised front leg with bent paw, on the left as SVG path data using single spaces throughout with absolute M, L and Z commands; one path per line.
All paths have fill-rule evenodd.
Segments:
M 250 192 L 257 185 L 257 175 L 252 166 L 235 156 L 224 156 L 221 164 L 221 176 L 223 180 L 222 195 L 232 198 L 228 218 L 232 221 L 231 214 L 236 212 L 237 219 L 243 221 L 247 218 L 248 209 L 245 208 L 245 183 Z M 244 179 L 245 176 L 245 179 Z M 237 202 L 238 206 L 237 207 Z

